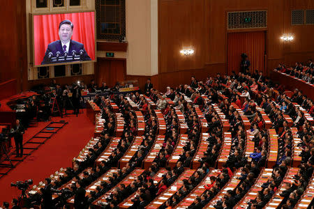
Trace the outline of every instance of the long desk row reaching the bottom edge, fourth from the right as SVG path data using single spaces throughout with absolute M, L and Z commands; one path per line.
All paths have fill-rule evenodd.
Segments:
M 239 180 L 238 178 L 240 176 L 241 176 L 241 171 L 239 170 L 235 171 L 232 178 L 225 185 L 225 187 L 220 189 L 220 192 L 218 192 L 218 194 L 216 194 L 216 196 L 213 199 L 211 199 L 211 201 L 209 201 L 209 203 L 207 203 L 207 205 L 204 208 L 214 208 L 216 203 L 220 201 L 221 199 L 223 199 L 223 196 L 227 194 L 228 190 L 234 190 L 239 185 L 241 180 Z

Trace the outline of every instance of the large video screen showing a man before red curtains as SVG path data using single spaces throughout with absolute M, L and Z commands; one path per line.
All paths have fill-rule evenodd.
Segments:
M 96 61 L 95 34 L 95 11 L 33 14 L 34 66 Z

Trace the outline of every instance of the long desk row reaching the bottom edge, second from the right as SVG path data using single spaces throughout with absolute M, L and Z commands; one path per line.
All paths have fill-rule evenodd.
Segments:
M 285 190 L 285 185 L 284 183 L 293 183 L 293 177 L 298 173 L 299 169 L 298 168 L 290 168 L 287 170 L 287 173 L 285 174 L 285 178 L 283 178 L 283 182 L 281 185 L 278 187 L 276 193 L 272 196 L 270 201 L 266 204 L 266 208 L 268 209 L 276 209 L 278 206 L 281 204 L 283 201 L 283 196 L 280 196 L 279 194 Z

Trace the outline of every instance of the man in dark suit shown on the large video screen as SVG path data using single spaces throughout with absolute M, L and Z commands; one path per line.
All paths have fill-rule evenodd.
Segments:
M 89 61 L 91 58 L 84 49 L 84 45 L 75 40 L 71 40 L 73 34 L 73 23 L 70 20 L 63 20 L 59 24 L 59 38 L 51 42 L 46 50 L 45 57 L 43 59 L 42 65 L 50 63 L 59 63 L 59 62 L 69 62 L 69 61 Z M 68 57 L 68 56 L 80 56 L 79 59 L 62 59 L 59 57 Z M 57 61 L 52 61 L 52 58 L 57 58 Z

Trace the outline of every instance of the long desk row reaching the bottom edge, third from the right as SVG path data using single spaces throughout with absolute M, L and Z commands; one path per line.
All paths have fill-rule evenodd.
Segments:
M 248 208 L 247 202 L 250 201 L 251 199 L 255 199 L 258 192 L 262 190 L 261 185 L 263 183 L 266 183 L 268 178 L 271 176 L 271 172 L 273 169 L 262 169 L 260 171 L 260 176 L 257 178 L 255 181 L 255 185 L 251 187 L 250 190 L 248 190 L 248 193 L 237 203 L 237 205 L 234 208 L 241 209 L 241 208 Z

